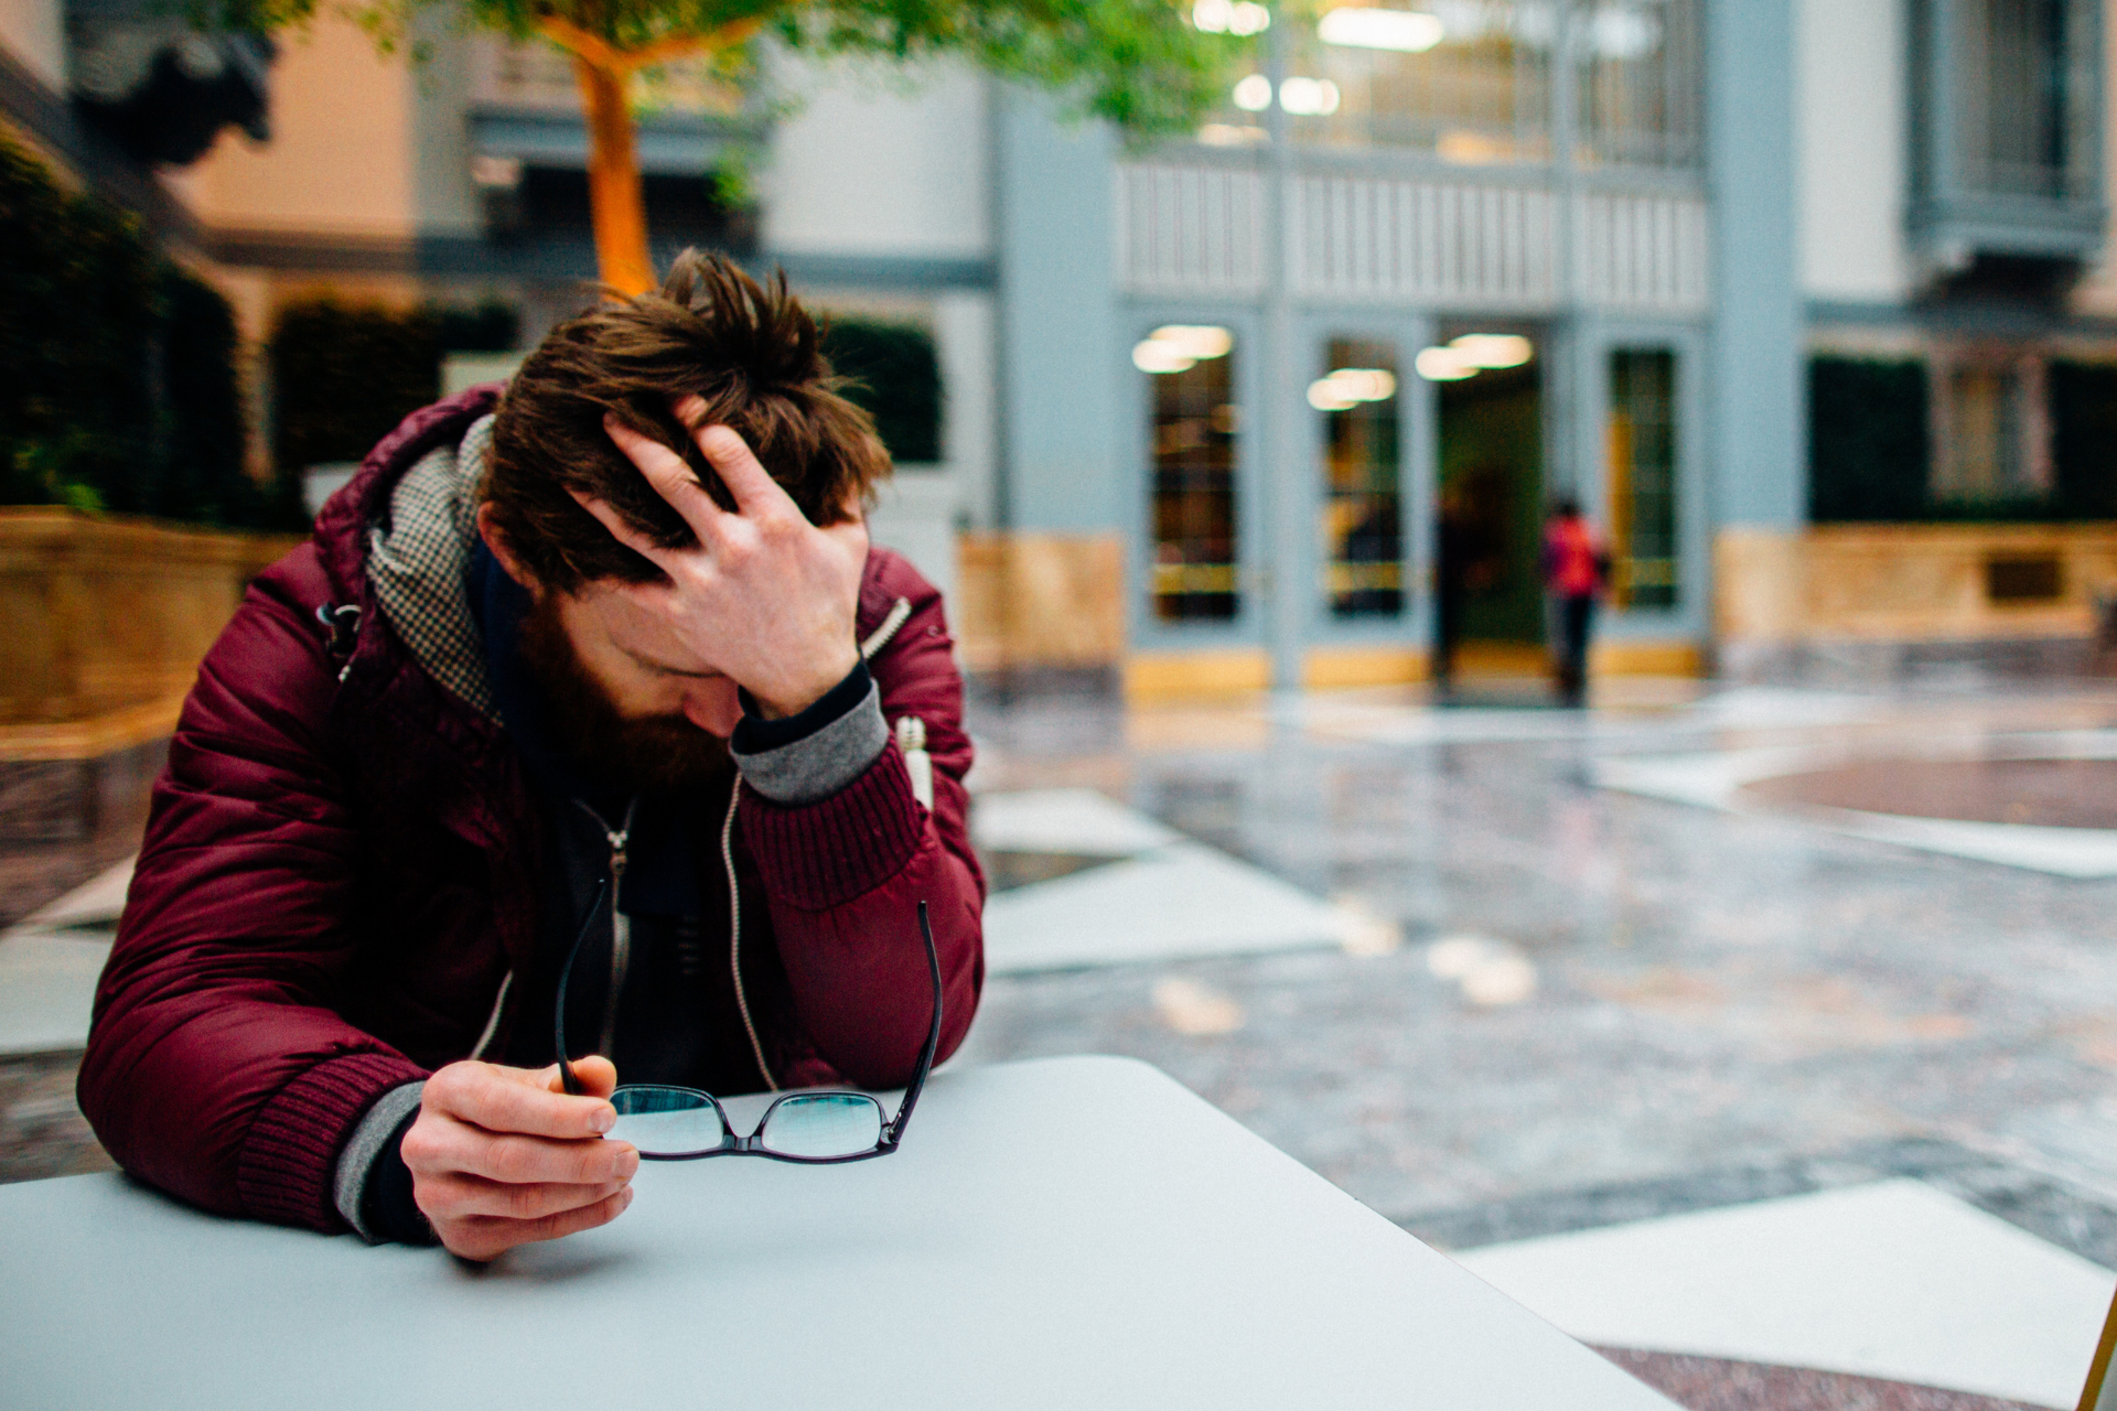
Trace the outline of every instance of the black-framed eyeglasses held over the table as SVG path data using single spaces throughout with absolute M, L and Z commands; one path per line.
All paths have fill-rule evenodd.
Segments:
M 574 1060 L 565 1056 L 565 982 L 574 975 L 574 960 L 595 918 L 603 910 L 603 888 L 597 888 L 589 905 L 589 918 L 574 937 L 574 948 L 565 952 L 559 969 L 559 1013 L 553 1022 L 553 1043 L 559 1053 L 559 1081 L 565 1092 L 580 1096 L 580 1079 L 574 1077 Z M 703 1157 L 771 1157 L 773 1161 L 802 1161 L 807 1166 L 832 1166 L 836 1161 L 866 1161 L 885 1157 L 904 1140 L 904 1123 L 912 1119 L 919 1089 L 925 1087 L 934 1068 L 934 1049 L 940 1047 L 940 952 L 934 950 L 934 927 L 927 922 L 927 905 L 919 903 L 919 937 L 927 948 L 927 975 L 934 982 L 934 1022 L 927 1026 L 925 1047 L 919 1051 L 919 1066 L 904 1089 L 898 1115 L 883 1121 L 883 1104 L 864 1092 L 830 1087 L 824 1092 L 794 1092 L 775 1098 L 749 1136 L 737 1136 L 728 1125 L 728 1113 L 720 1098 L 696 1087 L 663 1087 L 658 1083 L 627 1083 L 610 1094 L 610 1106 L 618 1108 L 618 1121 L 608 1136 L 631 1142 L 644 1161 L 699 1161 Z

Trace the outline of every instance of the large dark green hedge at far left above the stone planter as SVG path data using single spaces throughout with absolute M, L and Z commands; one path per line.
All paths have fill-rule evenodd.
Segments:
M 246 474 L 235 315 L 0 142 L 0 501 L 284 523 Z

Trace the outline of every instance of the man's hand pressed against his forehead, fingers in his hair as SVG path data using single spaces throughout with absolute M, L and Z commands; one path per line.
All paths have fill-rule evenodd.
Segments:
M 694 425 L 699 398 L 677 404 Z M 868 527 L 857 518 L 817 529 L 766 474 L 743 438 L 724 425 L 694 432 L 737 510 L 713 503 L 684 459 L 612 417 L 610 440 L 699 535 L 696 548 L 658 548 L 601 499 L 580 503 L 667 584 L 622 588 L 658 613 L 690 652 L 735 679 L 768 717 L 796 715 L 860 662 L 853 613 L 868 561 Z

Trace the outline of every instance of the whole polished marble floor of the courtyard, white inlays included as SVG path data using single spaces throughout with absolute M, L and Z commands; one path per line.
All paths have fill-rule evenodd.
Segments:
M 1685 1405 L 1780 1405 L 1785 1367 L 1838 1377 L 1819 1407 L 2070 1405 L 2117 1284 L 2117 690 L 1628 681 L 1581 713 L 1344 692 L 970 719 L 995 893 L 955 1062 L 1143 1058 L 1664 1386 L 1719 1377 L 1723 1400 Z M 0 941 L 0 971 L 64 986 L 83 905 Z M 66 1147 L 66 1064 L 32 1047 L 0 1062 L 0 1149 L 68 1166 L 0 1178 L 97 1155 Z M 1802 1240 L 1931 1267 L 1867 1290 L 1852 1352 L 1852 1314 L 1734 1307 L 1715 1331 L 1672 1297 L 1687 1242 L 1691 1276 L 1740 1265 L 1759 1307 L 1827 1307 L 1844 1269 L 1785 1257 Z M 1992 1250 L 2009 1276 L 1960 1273 Z M 1948 1326 L 2041 1341 L 2009 1360 Z M 1863 1377 L 1941 1400 L 1844 1400 Z

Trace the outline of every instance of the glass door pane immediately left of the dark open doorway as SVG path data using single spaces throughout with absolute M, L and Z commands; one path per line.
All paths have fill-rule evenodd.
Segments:
M 1404 613 L 1397 349 L 1332 338 L 1308 385 L 1323 413 L 1323 594 L 1334 618 Z

